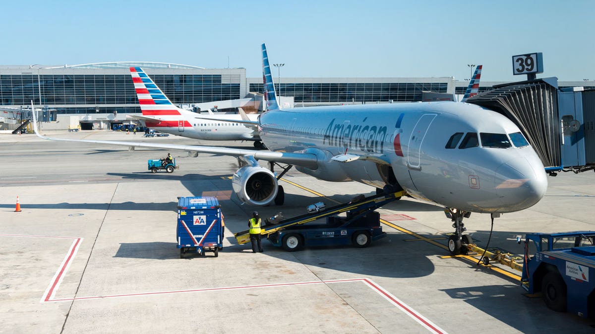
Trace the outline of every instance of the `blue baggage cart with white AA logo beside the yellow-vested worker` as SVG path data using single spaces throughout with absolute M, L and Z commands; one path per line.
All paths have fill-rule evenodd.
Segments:
M 225 224 L 221 206 L 215 197 L 178 197 L 177 247 L 180 259 L 188 253 L 215 257 L 223 249 Z

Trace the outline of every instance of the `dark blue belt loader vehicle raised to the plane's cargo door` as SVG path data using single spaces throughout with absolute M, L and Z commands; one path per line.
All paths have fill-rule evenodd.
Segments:
M 265 220 L 261 234 L 266 236 L 273 245 L 281 246 L 287 251 L 300 250 L 304 246 L 315 245 L 346 245 L 367 247 L 372 241 L 386 237 L 380 226 L 380 215 L 374 212 L 378 207 L 405 196 L 404 191 L 389 195 L 376 195 L 353 200 L 349 203 L 325 209 L 315 205 L 315 210 L 305 215 L 283 219 Z M 346 217 L 339 217 L 340 213 Z M 302 225 L 317 219 L 326 218 L 325 224 Z M 235 235 L 239 244 L 250 241 L 248 230 Z

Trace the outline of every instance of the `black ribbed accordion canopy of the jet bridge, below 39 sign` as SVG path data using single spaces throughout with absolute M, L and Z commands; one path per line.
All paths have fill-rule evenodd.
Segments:
M 466 102 L 511 119 L 527 137 L 546 169 L 562 166 L 558 79 L 540 78 L 497 85 L 494 90 L 480 93 Z

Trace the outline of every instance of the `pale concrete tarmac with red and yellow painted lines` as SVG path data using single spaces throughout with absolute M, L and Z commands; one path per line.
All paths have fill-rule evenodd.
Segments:
M 113 131 L 48 131 L 52 137 L 237 146 Z M 378 210 L 388 237 L 368 248 L 315 247 L 264 253 L 237 245 L 255 207 L 231 194 L 232 157 L 171 151 L 181 166 L 152 174 L 164 150 L 0 135 L 0 333 L 591 333 L 594 322 L 556 313 L 519 282 L 448 255 L 453 232 L 441 207 L 411 198 Z M 295 170 L 281 181 L 290 217 L 309 204 L 331 206 L 374 188 L 320 181 Z M 522 253 L 526 232 L 593 230 L 595 174 L 549 177 L 540 203 L 494 221 L 490 245 Z M 298 187 L 300 186 L 300 187 Z M 312 193 L 315 191 L 322 197 Z M 21 212 L 14 212 L 17 196 Z M 217 196 L 226 240 L 217 258 L 180 259 L 178 196 Z M 485 245 L 489 215 L 465 220 Z M 421 241 L 411 231 L 435 240 Z M 498 266 L 498 265 L 496 265 Z M 511 273 L 512 269 L 499 266 Z

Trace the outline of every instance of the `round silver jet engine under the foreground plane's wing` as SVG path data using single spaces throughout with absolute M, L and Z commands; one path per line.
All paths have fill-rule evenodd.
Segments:
M 243 203 L 264 206 L 277 196 L 277 178 L 262 166 L 244 166 L 233 174 L 231 185 Z

